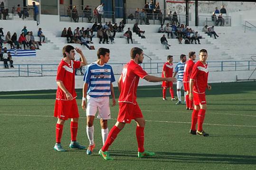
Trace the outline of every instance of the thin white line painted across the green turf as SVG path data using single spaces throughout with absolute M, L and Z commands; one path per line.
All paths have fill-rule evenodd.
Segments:
M 9 115 L 9 114 L 0 114 L 0 116 L 28 116 L 28 117 L 53 117 L 47 115 Z M 86 117 L 80 117 L 86 118 Z M 116 119 L 111 119 L 116 120 Z M 190 122 L 177 122 L 177 121 L 161 121 L 161 120 L 146 120 L 146 122 L 161 122 L 161 123 L 177 123 L 177 124 L 191 124 Z M 204 125 L 216 125 L 216 126 L 232 126 L 232 127 L 256 127 L 252 125 L 221 125 L 221 124 L 204 124 Z

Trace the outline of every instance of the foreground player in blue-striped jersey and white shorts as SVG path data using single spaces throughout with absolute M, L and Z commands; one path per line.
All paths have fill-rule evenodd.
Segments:
M 112 67 L 107 64 L 110 59 L 110 51 L 107 48 L 99 48 L 97 51 L 98 60 L 91 63 L 84 77 L 82 108 L 86 109 L 87 126 L 86 133 L 89 139 L 87 154 L 91 155 L 95 148 L 94 143 L 94 119 L 98 109 L 98 118 L 100 118 L 101 134 L 103 144 L 108 135 L 107 120 L 110 117 L 109 96 L 112 96 L 113 105 L 115 106 L 114 87 L 112 82 L 114 72 Z M 87 99 L 87 102 L 86 102 Z

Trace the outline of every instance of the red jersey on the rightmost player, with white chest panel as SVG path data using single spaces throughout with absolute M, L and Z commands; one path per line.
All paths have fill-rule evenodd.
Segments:
M 208 65 L 198 61 L 192 69 L 190 79 L 194 80 L 193 91 L 195 93 L 205 93 L 208 84 Z

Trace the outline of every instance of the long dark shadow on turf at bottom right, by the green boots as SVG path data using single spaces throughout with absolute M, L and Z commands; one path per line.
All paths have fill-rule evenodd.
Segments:
M 179 152 L 155 152 L 156 156 L 152 156 L 142 161 L 164 161 L 168 159 L 171 162 L 187 162 L 187 163 L 218 163 L 218 164 L 256 164 L 256 156 L 247 155 L 228 155 L 228 154 L 209 154 L 209 153 L 179 153 Z M 137 152 L 133 151 L 111 151 L 111 156 L 137 157 Z M 114 158 L 115 159 L 115 158 Z M 160 160 L 161 159 L 161 160 Z M 118 161 L 119 159 L 115 159 Z M 130 161 L 130 160 L 119 160 Z M 168 161 L 168 162 L 169 162 Z

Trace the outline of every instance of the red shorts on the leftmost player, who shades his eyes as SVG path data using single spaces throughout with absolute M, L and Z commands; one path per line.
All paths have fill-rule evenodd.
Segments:
M 63 120 L 67 120 L 68 118 L 78 118 L 79 113 L 76 98 L 73 100 L 56 100 L 54 116 Z

